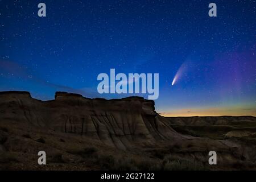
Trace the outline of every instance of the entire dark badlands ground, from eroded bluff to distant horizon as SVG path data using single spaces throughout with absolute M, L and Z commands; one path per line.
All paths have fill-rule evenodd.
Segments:
M 162 117 L 142 97 L 0 92 L 0 169 L 255 170 L 256 118 Z

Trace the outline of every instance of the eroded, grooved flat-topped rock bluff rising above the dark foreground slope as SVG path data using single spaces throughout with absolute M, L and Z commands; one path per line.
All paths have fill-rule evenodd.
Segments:
M 105 100 L 56 92 L 55 100 L 44 102 L 28 92 L 2 92 L 0 105 L 1 121 L 89 135 L 123 150 L 181 137 L 155 112 L 154 102 L 142 97 Z

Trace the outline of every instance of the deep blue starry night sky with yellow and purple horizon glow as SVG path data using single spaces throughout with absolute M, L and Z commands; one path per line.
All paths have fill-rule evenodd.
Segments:
M 40 2 L 46 17 L 38 16 Z M 217 17 L 208 16 L 211 2 Z M 98 74 L 115 68 L 159 73 L 155 107 L 162 115 L 256 116 L 255 6 L 0 0 L 0 91 L 27 90 L 40 100 L 60 90 L 90 98 L 135 95 L 97 93 Z

